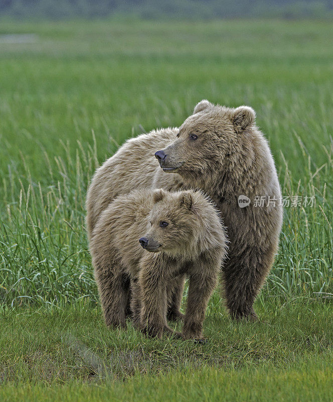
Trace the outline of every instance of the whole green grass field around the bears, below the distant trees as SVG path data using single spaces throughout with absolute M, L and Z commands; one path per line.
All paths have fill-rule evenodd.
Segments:
M 0 400 L 333 399 L 332 43 L 330 22 L 1 22 Z M 262 322 L 233 323 L 216 291 L 206 345 L 109 331 L 85 237 L 89 179 L 203 98 L 256 110 L 283 195 L 299 197 Z

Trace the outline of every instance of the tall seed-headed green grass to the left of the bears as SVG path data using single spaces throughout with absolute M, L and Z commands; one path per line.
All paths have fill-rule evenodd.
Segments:
M 64 306 L 84 297 L 97 299 L 84 211 L 87 183 L 98 166 L 96 148 L 85 152 L 80 147 L 74 159 L 68 151 L 64 146 L 67 157 L 55 158 L 56 175 L 44 154 L 48 186 L 33 181 L 24 156 L 26 185 L 18 176 L 11 183 L 19 188 L 4 182 L 5 199 L 11 199 L 0 218 L 4 305 Z

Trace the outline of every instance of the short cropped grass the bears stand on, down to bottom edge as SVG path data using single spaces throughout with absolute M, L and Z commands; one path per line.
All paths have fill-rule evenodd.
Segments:
M 83 306 L 8 312 L 0 399 L 330 400 L 330 306 L 270 303 L 258 312 L 262 322 L 252 324 L 209 315 L 204 345 L 147 339 L 130 324 L 109 331 L 99 309 Z

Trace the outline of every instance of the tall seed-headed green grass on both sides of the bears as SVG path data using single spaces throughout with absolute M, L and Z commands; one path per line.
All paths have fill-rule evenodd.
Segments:
M 64 145 L 63 157 L 50 165 L 49 185 L 34 182 L 24 156 L 23 175 L 12 173 L 4 181 L 7 202 L 0 217 L 1 294 L 3 305 L 59 305 L 87 298 L 96 302 L 90 256 L 85 234 L 85 194 L 90 177 L 99 165 L 97 144 L 84 150 L 79 143 L 73 158 Z M 304 148 L 305 179 L 297 182 L 287 164 L 280 169 L 282 193 L 298 195 L 300 207 L 286 207 L 280 249 L 261 302 L 266 296 L 283 300 L 298 296 L 333 297 L 333 236 L 331 200 L 321 177 L 332 174 L 333 149 L 324 147 L 327 162 L 311 170 L 311 157 Z M 323 172 L 322 172 L 323 171 Z M 322 184 L 323 182 L 323 184 Z M 15 187 L 14 183 L 17 183 Z M 305 196 L 315 197 L 303 207 Z

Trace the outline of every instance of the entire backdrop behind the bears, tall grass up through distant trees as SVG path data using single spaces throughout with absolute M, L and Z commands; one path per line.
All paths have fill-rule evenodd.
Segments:
M 257 303 L 331 297 L 332 12 L 331 0 L 2 0 L 1 306 L 98 303 L 84 222 L 94 170 L 203 98 L 253 107 L 283 194 L 316 199 L 285 209 Z

